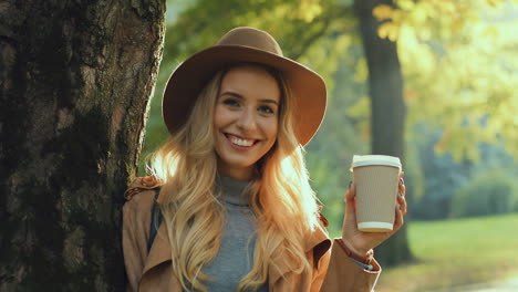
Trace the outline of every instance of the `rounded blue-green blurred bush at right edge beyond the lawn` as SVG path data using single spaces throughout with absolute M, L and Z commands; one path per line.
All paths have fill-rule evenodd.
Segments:
M 475 217 L 518 211 L 518 185 L 511 174 L 486 170 L 455 194 L 450 217 Z

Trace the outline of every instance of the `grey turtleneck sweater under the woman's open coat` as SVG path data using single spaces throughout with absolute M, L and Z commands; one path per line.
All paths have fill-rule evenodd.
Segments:
M 205 283 L 208 291 L 231 292 L 236 291 L 239 281 L 253 267 L 257 225 L 248 197 L 244 195 L 248 181 L 219 176 L 217 184 L 221 187 L 227 222 L 222 230 L 219 252 L 203 272 L 211 277 L 211 280 Z M 268 291 L 268 284 L 263 284 L 258 291 Z

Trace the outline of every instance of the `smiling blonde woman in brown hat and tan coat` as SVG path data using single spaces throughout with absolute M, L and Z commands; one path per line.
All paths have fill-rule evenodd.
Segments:
M 403 225 L 403 180 L 393 232 L 358 230 L 352 185 L 331 244 L 302 156 L 324 111 L 322 79 L 263 31 L 234 29 L 178 66 L 170 139 L 126 191 L 128 291 L 371 291 L 372 249 Z

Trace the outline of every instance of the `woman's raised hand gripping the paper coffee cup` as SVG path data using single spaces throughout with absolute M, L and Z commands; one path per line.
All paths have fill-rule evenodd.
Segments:
M 345 192 L 345 215 L 343 219 L 342 240 L 349 249 L 363 255 L 370 249 L 380 246 L 387 238 L 392 237 L 404 223 L 403 217 L 406 215 L 405 182 L 403 173 L 400 175 L 400 186 L 397 191 L 397 202 L 395 208 L 394 228 L 388 232 L 362 232 L 358 230 L 356 223 L 356 188 L 351 184 Z

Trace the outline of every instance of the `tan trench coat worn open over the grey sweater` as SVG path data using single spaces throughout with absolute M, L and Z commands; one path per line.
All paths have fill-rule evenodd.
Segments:
M 170 247 L 165 225 L 160 225 L 153 246 L 147 252 L 151 212 L 158 187 L 152 177 L 136 178 L 125 192 L 123 208 L 123 250 L 127 274 L 127 291 L 180 292 L 173 277 Z M 355 264 L 335 243 L 332 244 L 323 227 L 308 236 L 307 257 L 313 265 L 310 273 L 294 274 L 288 268 L 270 269 L 270 292 L 349 292 L 372 291 L 381 268 L 374 260 L 375 271 Z M 281 254 L 278 254 L 280 257 Z

